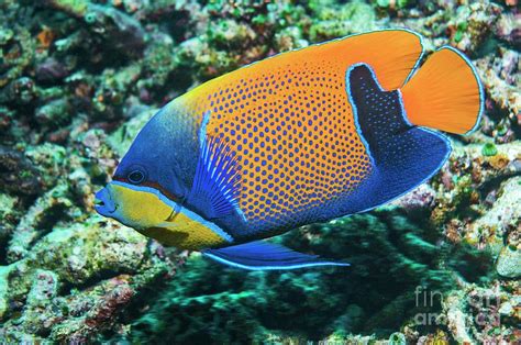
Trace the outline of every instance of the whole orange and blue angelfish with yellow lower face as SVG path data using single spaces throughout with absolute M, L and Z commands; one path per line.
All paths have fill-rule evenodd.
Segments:
M 377 31 L 282 53 L 171 100 L 142 129 L 96 210 L 165 245 L 245 269 L 348 265 L 262 241 L 365 212 L 446 162 L 440 131 L 483 112 L 476 70 L 419 34 Z

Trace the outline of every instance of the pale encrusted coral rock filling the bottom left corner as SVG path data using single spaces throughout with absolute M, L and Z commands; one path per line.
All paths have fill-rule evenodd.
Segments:
M 170 266 L 155 243 L 99 216 L 55 226 L 23 259 L 2 267 L 0 337 L 91 340 Z

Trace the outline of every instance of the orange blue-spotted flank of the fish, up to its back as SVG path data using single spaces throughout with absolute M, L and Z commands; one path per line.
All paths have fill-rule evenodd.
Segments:
M 388 40 L 389 33 L 377 36 Z M 393 67 L 378 64 L 376 55 L 350 56 L 346 43 L 353 38 L 347 38 L 253 64 L 178 99 L 196 118 L 210 111 L 207 135 L 223 140 L 235 153 L 239 207 L 250 224 L 270 229 L 317 221 L 322 205 L 347 196 L 370 174 L 345 74 L 362 60 L 373 63 L 377 75 L 396 69 L 380 81 L 401 85 L 414 64 L 410 56 L 418 57 L 421 47 L 412 34 L 399 35 L 412 43 L 410 51 L 395 54 L 409 58 Z

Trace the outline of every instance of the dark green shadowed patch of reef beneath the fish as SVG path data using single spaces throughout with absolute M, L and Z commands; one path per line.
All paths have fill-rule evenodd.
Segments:
M 129 340 L 241 343 L 252 334 L 257 341 L 390 334 L 400 320 L 413 316 L 418 286 L 446 290 L 455 283 L 441 269 L 447 253 L 436 247 L 440 238 L 429 236 L 428 230 L 385 211 L 304 226 L 282 237 L 292 248 L 345 259 L 348 269 L 245 274 L 193 257 L 135 322 Z

